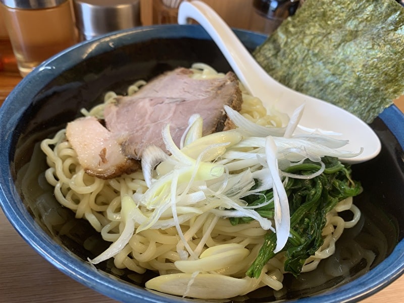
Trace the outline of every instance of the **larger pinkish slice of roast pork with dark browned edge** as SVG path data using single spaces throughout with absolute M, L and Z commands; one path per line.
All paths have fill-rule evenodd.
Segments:
M 166 123 L 170 123 L 171 136 L 178 146 L 193 114 L 204 119 L 203 135 L 232 128 L 223 106 L 241 109 L 236 76 L 229 72 L 223 78 L 193 79 L 192 73 L 177 68 L 131 96 L 117 97 L 115 103 L 106 107 L 107 128 L 118 135 L 125 155 L 140 159 L 149 144 L 165 150 L 161 131 Z

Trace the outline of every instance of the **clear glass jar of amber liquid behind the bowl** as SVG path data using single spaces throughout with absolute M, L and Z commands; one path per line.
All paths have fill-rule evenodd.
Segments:
M 45 9 L 1 5 L 21 76 L 77 42 L 69 1 Z

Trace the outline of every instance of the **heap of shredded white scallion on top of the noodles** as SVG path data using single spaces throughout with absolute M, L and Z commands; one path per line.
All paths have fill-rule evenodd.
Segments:
M 209 225 L 212 228 L 220 217 L 254 219 L 264 230 L 277 233 L 274 252 L 280 251 L 290 229 L 284 182 L 288 178 L 311 179 L 320 175 L 325 169 L 321 161 L 324 156 L 349 158 L 361 153 L 336 149 L 344 146 L 345 140 L 318 134 L 294 135 L 303 109 L 303 106 L 296 109 L 286 127 L 276 128 L 255 124 L 225 106 L 237 128 L 207 136 L 202 136 L 200 116 L 193 115 L 180 147 L 175 145 L 167 124 L 162 136 L 171 156 L 154 145 L 144 150 L 141 162 L 148 189 L 122 198 L 124 230 L 118 240 L 90 262 L 96 264 L 118 254 L 133 233 L 170 227 L 176 228 L 180 238 L 177 244 L 180 258 L 198 260 L 207 239 L 192 249 L 188 243 L 192 234 L 183 232 L 181 224 L 205 216 L 213 218 Z M 305 159 L 317 162 L 320 169 L 310 175 L 284 171 Z M 273 198 L 264 199 L 260 205 L 248 206 L 242 199 L 250 194 L 262 195 L 262 191 L 269 189 L 273 190 Z M 274 218 L 261 217 L 256 209 L 270 203 L 275 207 Z M 191 277 L 186 291 L 193 287 L 195 277 Z

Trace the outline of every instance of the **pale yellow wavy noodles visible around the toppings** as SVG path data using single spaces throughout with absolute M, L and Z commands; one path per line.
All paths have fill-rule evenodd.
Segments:
M 192 67 L 195 78 L 223 77 L 214 69 L 204 64 Z M 144 81 L 137 81 L 128 87 L 128 95 L 136 93 Z M 267 114 L 267 109 L 260 99 L 250 96 L 242 85 L 243 104 L 241 114 L 248 119 L 266 126 L 284 126 L 279 115 Z M 95 116 L 102 119 L 106 103 L 113 102 L 117 97 L 115 92 L 105 95 L 105 103 L 98 105 L 90 111 L 83 110 L 84 115 Z M 49 168 L 45 172 L 46 180 L 55 187 L 54 193 L 60 204 L 76 213 L 77 218 L 85 218 L 100 232 L 106 241 L 116 241 L 122 232 L 125 223 L 120 214 L 121 200 L 124 195 L 132 196 L 136 192 L 144 193 L 147 190 L 141 171 L 119 178 L 102 180 L 87 175 L 80 166 L 77 155 L 70 143 L 66 140 L 65 130 L 59 131 L 54 138 L 45 139 L 41 149 L 46 155 Z M 243 161 L 243 160 L 242 160 Z M 245 160 L 246 161 L 246 160 Z M 214 207 L 214 206 L 213 206 Z M 238 278 L 245 276 L 245 271 L 258 256 L 259 250 L 267 233 L 257 221 L 249 224 L 233 226 L 225 218 L 209 213 L 212 206 L 207 206 L 207 212 L 195 215 L 180 224 L 183 236 L 196 256 L 200 256 L 208 247 L 237 243 L 249 250 L 246 258 L 237 264 L 217 270 L 217 274 L 231 275 Z M 140 210 L 148 215 L 149 210 L 141 207 Z M 338 211 L 350 210 L 354 218 L 344 222 L 338 216 Z M 184 218 L 179 214 L 179 219 Z M 335 241 L 340 237 L 344 228 L 354 226 L 360 217 L 358 208 L 352 205 L 352 199 L 341 201 L 337 208 L 327 215 L 327 223 L 323 229 L 324 243 L 310 257 L 302 271 L 313 270 L 321 259 L 328 258 L 335 250 Z M 169 218 L 167 218 L 169 219 Z M 174 262 L 181 260 L 181 251 L 184 243 L 180 241 L 175 227 L 159 229 L 146 229 L 135 233 L 125 247 L 114 256 L 114 265 L 118 269 L 128 268 L 136 273 L 144 273 L 146 269 L 154 270 L 160 274 L 178 272 Z M 352 251 L 352 255 L 358 252 Z M 369 256 L 371 259 L 372 256 Z M 278 254 L 271 259 L 261 273 L 259 279 L 251 279 L 250 292 L 263 285 L 274 290 L 282 288 L 284 274 L 284 254 Z M 275 295 L 281 292 L 276 292 Z

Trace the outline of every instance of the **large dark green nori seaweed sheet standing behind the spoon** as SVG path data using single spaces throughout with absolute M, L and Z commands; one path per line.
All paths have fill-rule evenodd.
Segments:
M 253 55 L 284 85 L 370 123 L 404 94 L 404 8 L 306 0 Z

